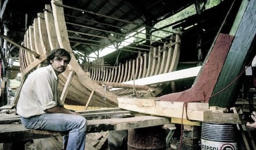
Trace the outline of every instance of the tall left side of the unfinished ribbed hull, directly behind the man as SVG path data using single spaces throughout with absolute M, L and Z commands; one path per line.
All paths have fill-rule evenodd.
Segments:
M 69 44 L 63 8 L 54 4 L 52 6 L 53 13 L 45 11 L 38 14 L 24 35 L 23 46 L 36 52 L 40 57 L 37 59 L 31 52 L 20 49 L 22 79 L 25 80 L 28 73 L 41 66 L 50 49 L 64 48 L 70 52 L 72 59 L 66 72 L 59 75 L 62 101 L 66 104 L 85 105 L 90 100 L 90 106 L 116 107 L 116 94 L 95 83 L 78 64 Z M 51 7 L 46 6 L 46 9 L 51 10 Z M 16 96 L 15 101 L 18 98 L 19 96 Z

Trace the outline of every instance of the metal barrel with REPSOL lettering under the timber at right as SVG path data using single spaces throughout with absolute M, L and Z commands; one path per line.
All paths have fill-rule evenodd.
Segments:
M 201 149 L 237 149 L 236 127 L 233 124 L 202 123 Z

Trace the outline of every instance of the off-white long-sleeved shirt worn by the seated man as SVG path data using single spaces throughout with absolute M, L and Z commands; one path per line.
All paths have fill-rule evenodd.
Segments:
M 58 77 L 51 65 L 36 69 L 28 75 L 20 92 L 17 114 L 28 118 L 45 114 L 45 110 L 63 106 L 58 96 Z

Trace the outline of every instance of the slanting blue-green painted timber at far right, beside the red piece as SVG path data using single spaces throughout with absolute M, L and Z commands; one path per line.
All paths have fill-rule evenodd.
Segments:
M 229 49 L 228 56 L 224 62 L 223 69 L 213 90 L 213 94 L 222 90 L 237 78 L 241 70 L 244 69 L 245 60 L 250 55 L 255 54 L 255 35 L 256 35 L 256 1 L 249 1 L 244 12 L 241 23 L 234 36 L 233 44 Z M 236 58 L 236 59 L 234 59 Z M 241 79 L 242 80 L 242 79 Z M 234 96 L 238 88 L 239 80 L 222 93 L 210 99 L 210 106 L 229 107 L 233 104 Z

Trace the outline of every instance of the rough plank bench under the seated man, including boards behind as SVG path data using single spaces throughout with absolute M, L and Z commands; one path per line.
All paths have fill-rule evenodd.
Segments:
M 151 115 L 133 114 L 129 110 L 99 109 L 79 112 L 87 118 L 87 133 L 145 128 L 171 123 L 171 119 Z M 97 119 L 95 119 L 95 117 Z M 0 115 L 0 143 L 14 143 L 38 138 L 50 138 L 65 133 L 33 130 L 23 127 L 19 115 Z

